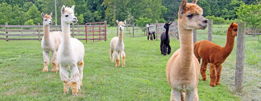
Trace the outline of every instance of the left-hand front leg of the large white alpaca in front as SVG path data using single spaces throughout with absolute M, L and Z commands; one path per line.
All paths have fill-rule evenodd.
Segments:
M 60 78 L 64 82 L 64 93 L 69 92 L 69 87 L 70 87 L 70 79 L 69 79 L 69 73 L 67 71 L 67 67 L 61 66 L 60 67 Z

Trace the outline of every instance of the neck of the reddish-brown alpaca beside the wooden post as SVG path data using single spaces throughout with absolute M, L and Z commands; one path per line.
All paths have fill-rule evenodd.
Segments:
M 228 57 L 230 53 L 233 51 L 234 48 L 234 43 L 235 43 L 235 36 L 232 36 L 232 32 L 227 30 L 226 34 L 226 45 L 222 47 L 222 56 L 224 58 Z

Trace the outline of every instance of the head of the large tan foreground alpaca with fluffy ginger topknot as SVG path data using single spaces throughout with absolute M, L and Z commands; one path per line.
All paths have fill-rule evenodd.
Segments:
M 187 3 L 187 0 L 181 2 L 178 13 L 180 27 L 186 30 L 206 29 L 208 20 L 202 16 L 203 9 L 196 3 L 197 0 L 194 0 L 192 3 Z

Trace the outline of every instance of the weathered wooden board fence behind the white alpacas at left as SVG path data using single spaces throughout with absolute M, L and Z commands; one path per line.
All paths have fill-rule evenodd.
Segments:
M 99 25 L 94 25 L 94 27 L 98 27 Z M 87 25 L 87 27 L 93 27 L 93 25 Z M 99 30 L 99 29 L 95 29 Z M 50 25 L 50 32 L 52 31 L 61 31 L 61 25 Z M 88 31 L 93 31 L 93 29 L 89 29 Z M 43 34 L 43 25 L 0 25 L 0 40 L 38 40 L 41 41 Z M 71 36 L 75 38 L 75 36 L 84 36 L 82 38 L 77 38 L 78 40 L 86 40 L 85 36 L 85 25 L 70 25 Z M 87 34 L 93 35 L 93 34 Z M 5 38 L 1 37 L 5 36 Z M 21 36 L 19 38 L 10 38 L 10 36 Z M 24 36 L 29 38 L 23 38 Z M 38 37 L 37 37 L 38 36 Z M 99 36 L 99 35 L 97 35 Z M 34 38 L 36 37 L 36 38 Z

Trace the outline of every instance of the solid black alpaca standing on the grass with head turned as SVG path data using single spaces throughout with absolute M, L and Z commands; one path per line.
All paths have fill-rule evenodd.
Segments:
M 169 26 L 171 24 L 172 23 L 165 23 L 164 28 L 166 29 L 166 31 L 160 35 L 160 51 L 161 54 L 163 55 L 167 54 L 167 48 L 168 48 L 168 54 L 171 53 L 171 46 L 169 45 L 169 35 L 168 35 Z

